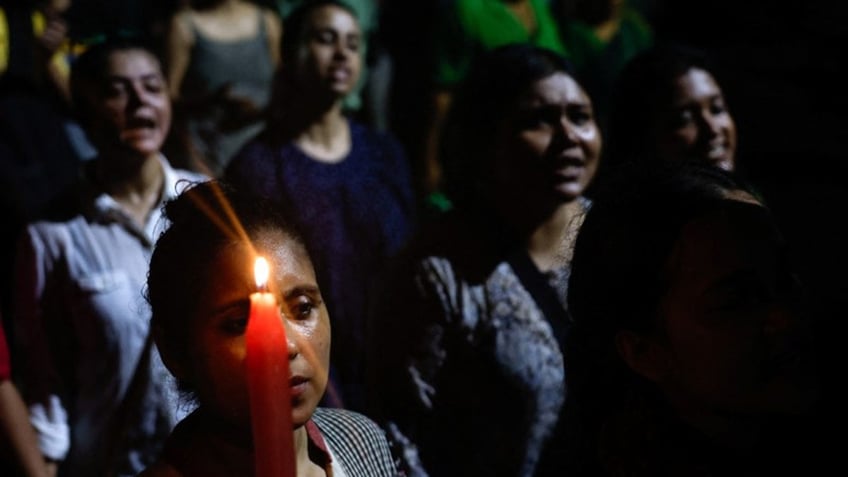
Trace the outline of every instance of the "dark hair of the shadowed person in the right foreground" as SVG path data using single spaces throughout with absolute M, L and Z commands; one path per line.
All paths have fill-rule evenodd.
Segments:
M 756 197 L 737 175 L 695 161 L 616 170 L 597 191 L 575 242 L 569 282 L 575 321 L 650 326 L 648 315 L 666 285 L 662 268 L 681 228 L 723 207 L 730 191 Z

